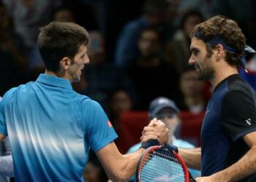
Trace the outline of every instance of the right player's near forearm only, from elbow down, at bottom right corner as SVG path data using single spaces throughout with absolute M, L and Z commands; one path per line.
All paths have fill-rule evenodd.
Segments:
M 216 181 L 238 181 L 256 172 L 256 146 L 227 169 L 212 175 Z

